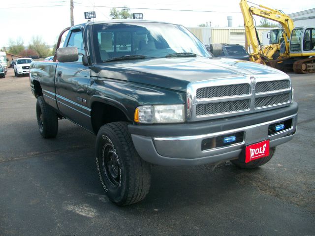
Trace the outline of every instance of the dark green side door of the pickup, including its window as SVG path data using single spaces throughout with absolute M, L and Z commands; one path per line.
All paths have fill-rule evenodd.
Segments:
M 62 115 L 78 125 L 92 130 L 91 109 L 87 102 L 87 87 L 91 80 L 91 68 L 82 64 L 85 54 L 83 28 L 69 31 L 65 46 L 78 48 L 79 59 L 75 62 L 59 62 L 56 69 L 57 104 Z

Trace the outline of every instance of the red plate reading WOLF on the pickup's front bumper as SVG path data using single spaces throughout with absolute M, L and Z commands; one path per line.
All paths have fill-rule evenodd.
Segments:
M 269 139 L 246 147 L 245 163 L 269 156 Z

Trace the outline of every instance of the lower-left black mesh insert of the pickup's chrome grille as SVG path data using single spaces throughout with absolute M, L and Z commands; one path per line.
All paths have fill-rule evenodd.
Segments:
M 246 111 L 249 109 L 250 99 L 198 104 L 196 107 L 196 116 L 198 117 L 236 111 Z

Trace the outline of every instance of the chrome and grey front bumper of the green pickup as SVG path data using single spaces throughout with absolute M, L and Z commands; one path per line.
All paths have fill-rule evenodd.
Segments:
M 147 162 L 157 165 L 200 165 L 238 158 L 249 144 L 270 140 L 276 147 L 291 140 L 296 132 L 298 106 L 233 118 L 170 125 L 129 125 L 133 144 Z M 272 124 L 291 120 L 287 129 L 268 135 Z M 204 140 L 244 132 L 242 140 L 219 148 L 203 150 Z

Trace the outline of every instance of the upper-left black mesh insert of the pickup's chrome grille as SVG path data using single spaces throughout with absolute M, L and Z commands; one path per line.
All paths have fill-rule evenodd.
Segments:
M 249 84 L 224 85 L 197 89 L 196 96 L 197 99 L 212 97 L 230 97 L 250 94 L 250 92 L 251 88 Z

